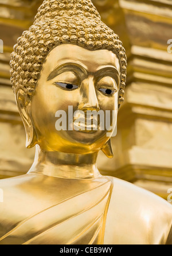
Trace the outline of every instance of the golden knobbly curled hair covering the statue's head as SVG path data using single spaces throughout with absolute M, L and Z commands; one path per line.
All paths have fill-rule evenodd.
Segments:
M 11 54 L 13 91 L 23 86 L 32 96 L 48 53 L 57 45 L 75 44 L 89 50 L 108 49 L 120 60 L 119 106 L 126 84 L 127 57 L 119 36 L 105 25 L 91 0 L 45 0 L 34 24 L 22 33 Z

